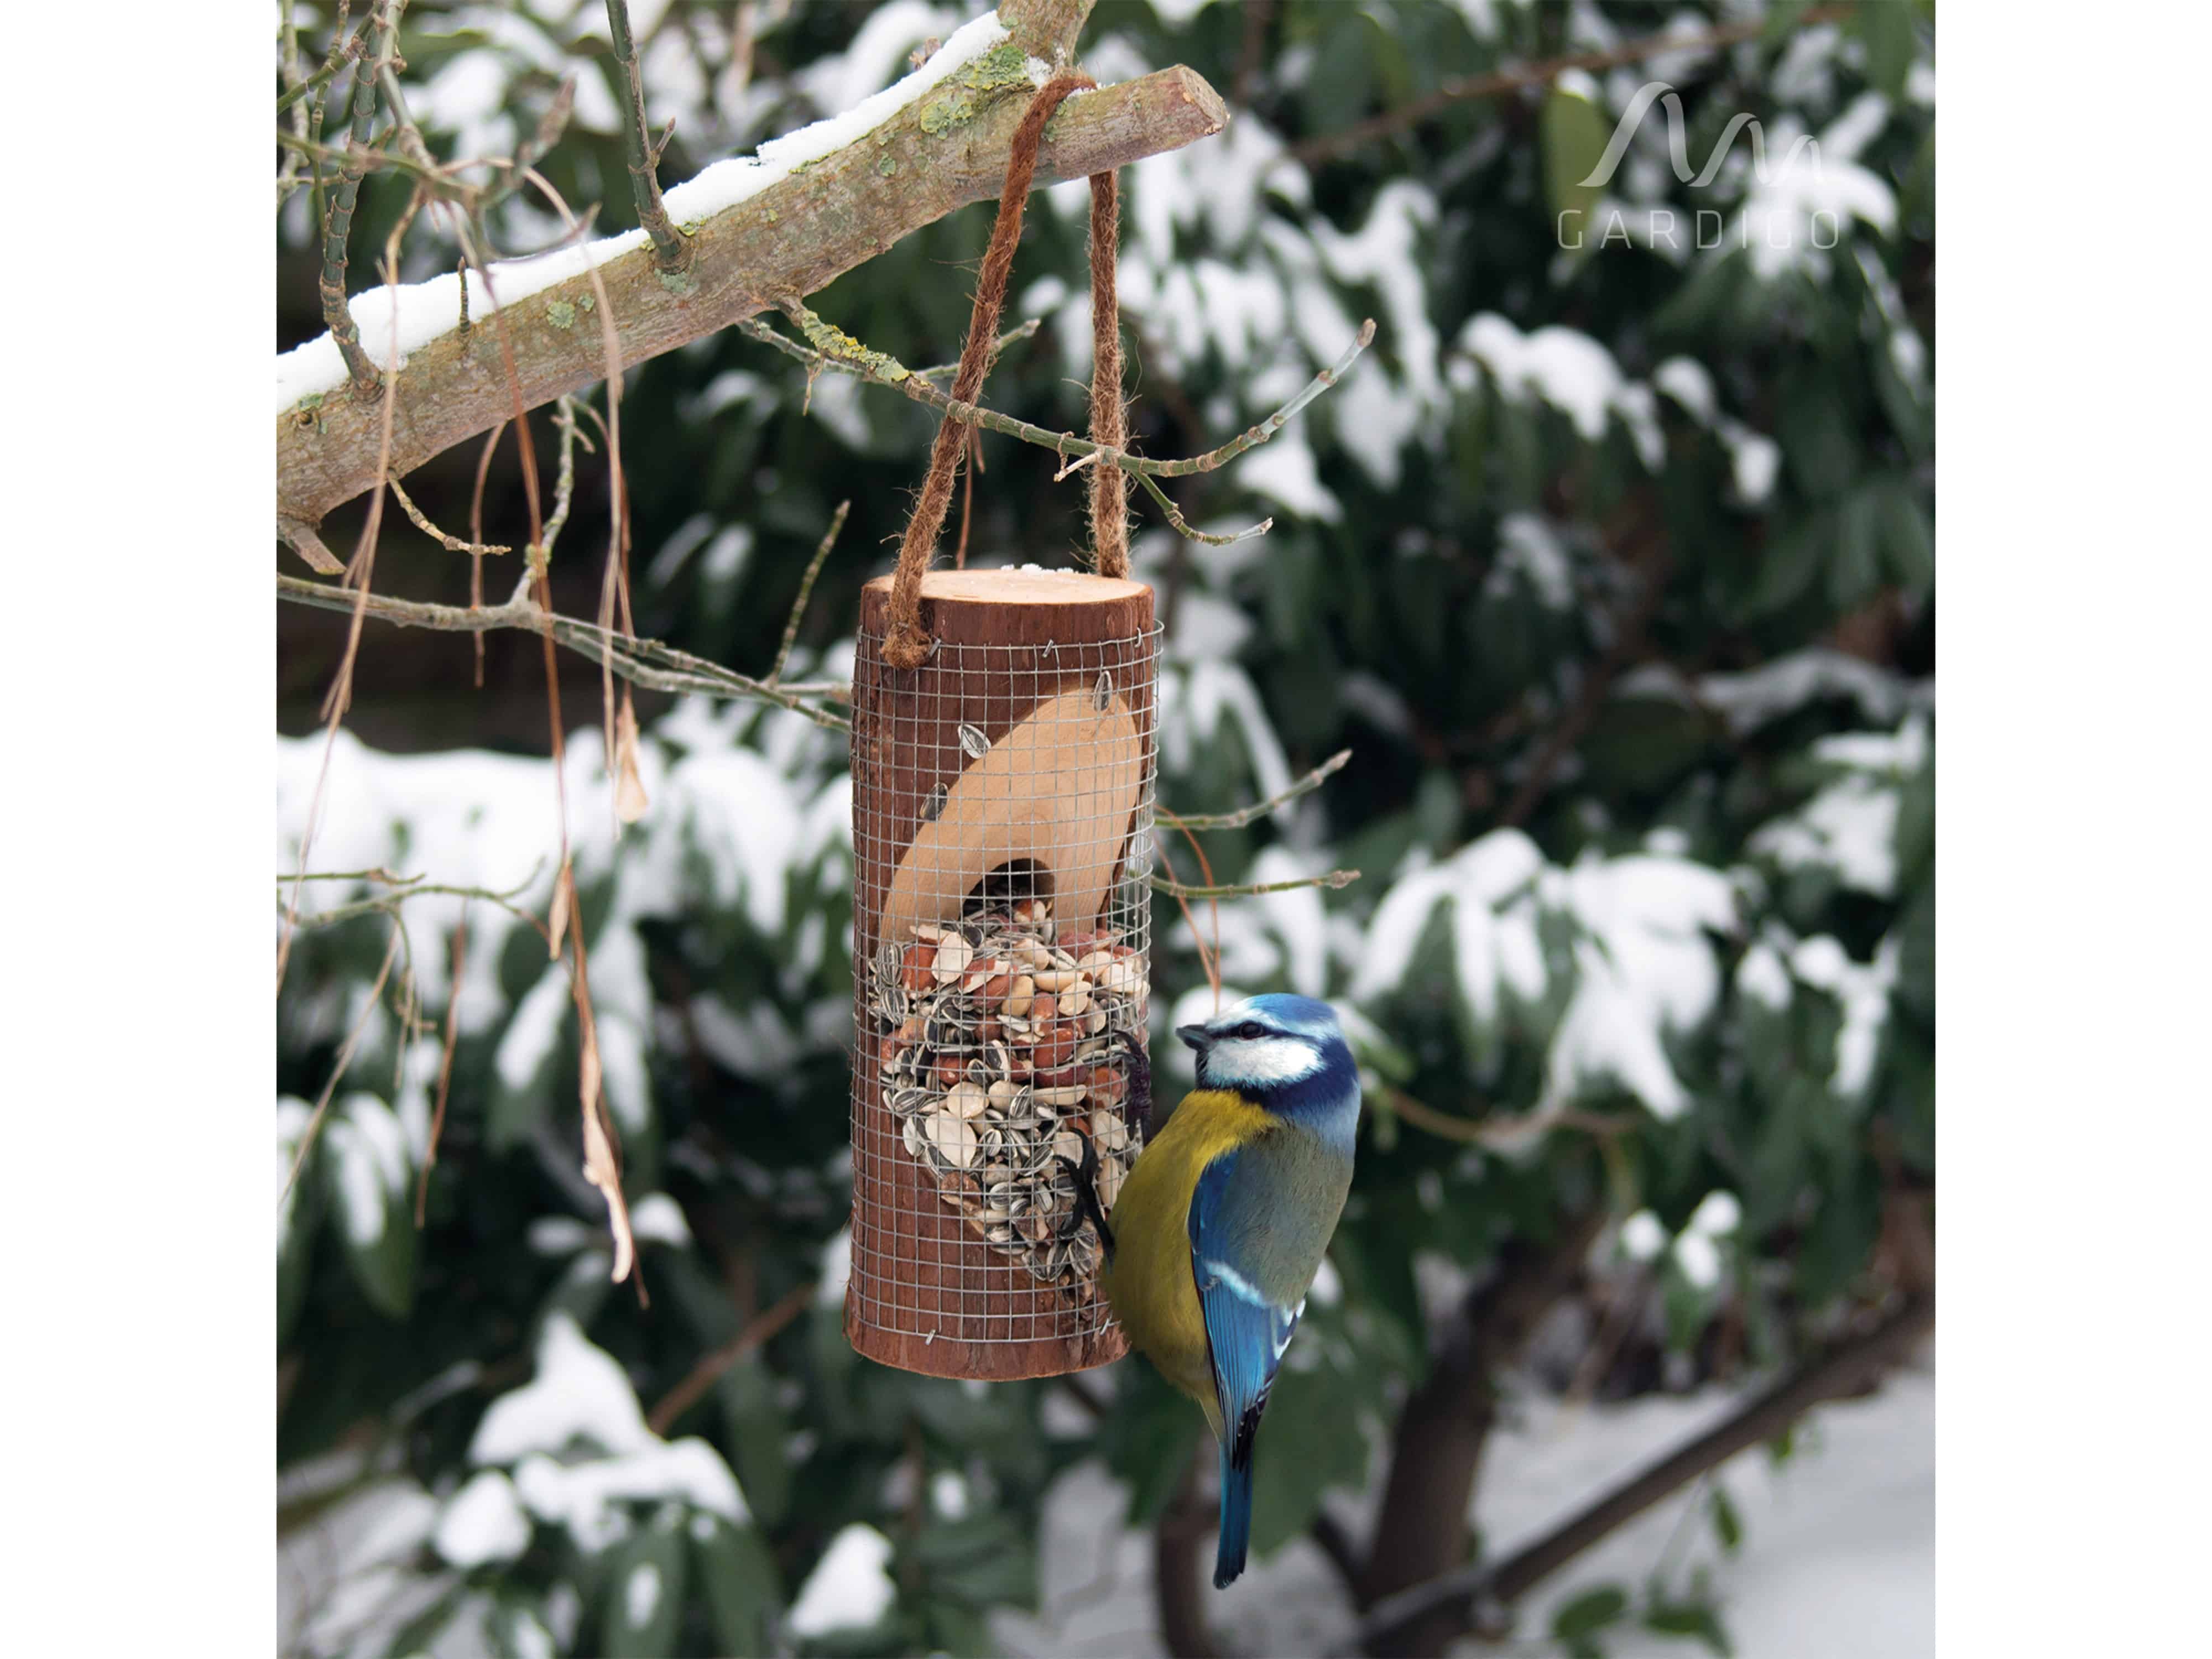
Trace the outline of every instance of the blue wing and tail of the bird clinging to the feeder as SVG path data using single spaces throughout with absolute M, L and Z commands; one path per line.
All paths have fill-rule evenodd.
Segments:
M 1214 1555 L 1214 1588 L 1225 1586 L 1245 1564 L 1252 1533 L 1252 1438 L 1259 1433 L 1267 1389 L 1283 1365 L 1290 1334 L 1298 1329 L 1294 1307 L 1270 1301 L 1256 1283 L 1252 1243 L 1263 1237 L 1254 1194 L 1237 1183 L 1241 1152 L 1223 1152 L 1199 1175 L 1190 1194 L 1190 1274 L 1206 1316 L 1206 1343 L 1214 1360 L 1214 1396 L 1221 1402 L 1221 1542 Z

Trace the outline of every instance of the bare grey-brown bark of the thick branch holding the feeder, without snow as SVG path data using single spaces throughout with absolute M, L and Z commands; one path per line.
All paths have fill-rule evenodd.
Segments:
M 1088 11 L 1088 0 L 1006 0 L 1000 15 L 1013 31 L 1009 44 L 1066 62 Z M 929 95 L 916 100 L 865 142 L 686 228 L 695 257 L 681 276 L 655 268 L 650 243 L 599 265 L 622 365 L 712 334 L 781 296 L 810 294 L 953 208 L 998 197 L 1009 139 L 1029 102 L 1024 91 L 1026 80 L 975 91 L 973 115 L 953 117 Z M 940 131 L 927 131 L 925 115 Z M 1053 117 L 1037 155 L 1037 186 L 1106 173 L 1223 126 L 1228 108 L 1190 69 L 1102 86 Z M 580 274 L 509 307 L 524 407 L 606 378 L 591 305 L 591 274 Z M 418 347 L 389 396 L 398 400 L 392 476 L 509 418 L 515 392 L 498 325 L 476 319 L 467 332 L 456 327 Z M 276 416 L 281 518 L 312 526 L 378 482 L 380 403 L 341 387 L 305 418 L 292 409 Z

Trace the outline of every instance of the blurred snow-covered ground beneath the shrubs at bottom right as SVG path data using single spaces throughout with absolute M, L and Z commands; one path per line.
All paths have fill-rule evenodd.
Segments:
M 1655 1223 L 1657 1225 L 1657 1223 Z M 1756 1383 L 1747 1385 L 1754 1389 Z M 1624 1405 L 1564 1407 L 1526 1400 L 1484 1447 L 1473 1520 L 1498 1555 L 1555 1526 L 1566 1513 L 1657 1462 L 1732 1413 L 1743 1394 L 1644 1396 Z M 1712 1573 L 1721 1617 L 1745 1659 L 1931 1659 L 1936 1652 L 1936 1380 L 1907 1369 L 1863 1398 L 1823 1405 L 1798 1433 L 1796 1455 L 1774 1467 L 1763 1447 L 1721 1467 L 1743 1520 L 1743 1548 L 1721 1555 L 1703 1520 L 1705 1489 L 1688 1486 L 1601 1540 L 1524 1604 L 1520 1652 L 1540 1641 L 1573 1597 L 1621 1584 L 1637 1595 L 1663 1562 L 1683 1590 L 1688 1573 Z M 1037 1528 L 1040 1610 L 991 1615 L 993 1650 L 1029 1655 L 1113 1652 L 1159 1659 L 1150 1533 L 1124 1528 L 1128 1489 L 1086 1460 L 1046 1493 Z M 1265 1502 L 1265 1498 L 1261 1498 Z M 1363 1500 L 1363 1509 L 1365 1502 Z M 1338 1495 L 1332 1509 L 1365 1535 L 1365 1513 Z M 1677 1528 L 1670 1553 L 1668 1544 Z M 1232 1652 L 1352 1652 L 1352 1610 L 1338 1577 L 1307 1542 L 1254 1557 L 1245 1577 L 1208 1601 Z M 1683 1659 L 1681 1639 L 1626 1621 L 1604 1637 L 1608 1659 Z

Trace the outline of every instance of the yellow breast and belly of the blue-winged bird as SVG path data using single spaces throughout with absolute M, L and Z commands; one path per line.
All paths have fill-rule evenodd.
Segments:
M 1208 1164 L 1270 1124 L 1265 1110 L 1228 1091 L 1183 1095 L 1159 1139 L 1128 1172 L 1110 1217 L 1117 1250 L 1104 1285 L 1115 1316 L 1161 1376 L 1206 1409 L 1217 1436 L 1221 1420 L 1206 1318 L 1190 1276 L 1190 1194 Z

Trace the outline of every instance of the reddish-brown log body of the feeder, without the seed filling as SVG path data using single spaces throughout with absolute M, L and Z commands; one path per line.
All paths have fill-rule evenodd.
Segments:
M 1048 896 L 1053 929 L 1113 929 L 1148 982 L 1152 591 L 1073 571 L 936 571 L 920 668 L 883 661 L 889 577 L 854 659 L 852 1281 L 845 1334 L 885 1365 L 1011 1380 L 1126 1352 L 1104 1296 L 993 1250 L 909 1152 L 883 1099 L 872 962 L 975 894 Z M 1126 1113 L 1128 1102 L 1115 1110 Z M 1124 1119 L 1126 1121 L 1126 1119 Z

